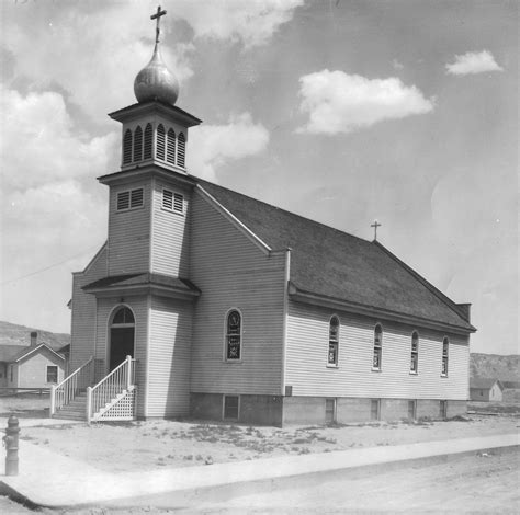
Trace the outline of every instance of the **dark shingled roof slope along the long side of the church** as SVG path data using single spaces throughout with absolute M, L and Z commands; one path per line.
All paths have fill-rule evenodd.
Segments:
M 196 181 L 272 250 L 292 249 L 291 283 L 299 290 L 475 331 L 456 304 L 381 243 Z

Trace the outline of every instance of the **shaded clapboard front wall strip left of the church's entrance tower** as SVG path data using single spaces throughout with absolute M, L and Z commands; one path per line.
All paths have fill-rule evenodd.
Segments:
M 105 277 L 106 273 L 106 245 L 103 245 L 87 268 L 72 276 L 70 371 L 93 356 L 95 346 L 95 297 L 81 287 Z

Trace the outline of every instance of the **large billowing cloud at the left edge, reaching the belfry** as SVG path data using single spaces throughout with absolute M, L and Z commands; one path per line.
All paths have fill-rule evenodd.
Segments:
M 4 187 L 23 190 L 48 182 L 105 173 L 118 148 L 118 133 L 89 138 L 75 128 L 64 98 L 0 85 L 0 162 Z

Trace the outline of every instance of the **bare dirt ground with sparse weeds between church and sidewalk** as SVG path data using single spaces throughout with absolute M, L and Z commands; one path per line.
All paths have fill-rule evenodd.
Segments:
M 0 399 L 0 414 L 14 412 L 44 416 L 47 404 L 39 398 Z M 330 453 L 441 440 L 456 437 L 515 433 L 518 413 L 490 416 L 472 414 L 446 422 L 374 422 L 287 428 L 239 424 L 147 421 L 24 427 L 21 440 L 110 472 L 179 468 L 193 465 L 242 461 L 274 456 Z

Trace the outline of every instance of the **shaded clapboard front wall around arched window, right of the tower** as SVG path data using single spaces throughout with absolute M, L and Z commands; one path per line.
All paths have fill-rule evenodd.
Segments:
M 285 256 L 267 255 L 199 193 L 191 224 L 191 278 L 202 291 L 194 312 L 192 391 L 280 394 Z M 239 363 L 224 359 L 230 308 L 242 314 Z

